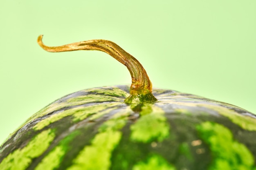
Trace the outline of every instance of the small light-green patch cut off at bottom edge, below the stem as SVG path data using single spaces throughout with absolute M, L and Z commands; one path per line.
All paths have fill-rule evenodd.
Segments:
M 132 170 L 176 170 L 176 168 L 169 164 L 163 157 L 153 155 L 147 161 L 140 161 Z

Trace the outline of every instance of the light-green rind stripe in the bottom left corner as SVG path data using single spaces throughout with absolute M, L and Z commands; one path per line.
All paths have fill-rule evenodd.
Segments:
M 32 139 L 24 148 L 17 149 L 0 163 L 0 170 L 25 170 L 32 159 L 39 157 L 49 147 L 55 135 L 50 129 Z

